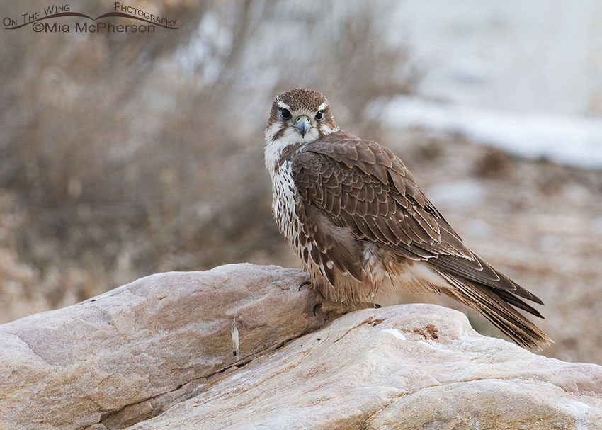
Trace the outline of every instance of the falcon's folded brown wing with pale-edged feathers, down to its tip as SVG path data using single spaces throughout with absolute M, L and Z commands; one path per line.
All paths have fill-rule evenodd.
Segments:
M 390 149 L 336 132 L 306 145 L 292 162 L 300 196 L 357 239 L 504 291 L 508 302 L 516 294 L 542 303 L 463 244 Z M 513 305 L 535 313 L 517 300 Z

